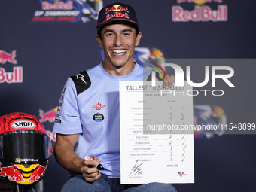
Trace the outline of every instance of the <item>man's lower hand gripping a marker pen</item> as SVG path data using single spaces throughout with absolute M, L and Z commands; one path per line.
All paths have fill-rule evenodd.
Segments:
M 81 172 L 86 181 L 93 182 L 100 177 L 99 169 L 96 165 L 100 162 L 99 157 L 93 155 L 93 160 L 83 160 L 81 162 Z

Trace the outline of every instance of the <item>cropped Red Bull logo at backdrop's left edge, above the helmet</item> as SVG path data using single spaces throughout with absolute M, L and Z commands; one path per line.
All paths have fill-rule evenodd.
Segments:
M 0 50 L 0 64 L 6 65 L 11 63 L 17 65 L 16 50 L 13 50 L 11 53 L 6 52 L 5 50 Z M 23 82 L 23 67 L 15 66 L 11 72 L 5 70 L 5 68 L 0 67 L 0 83 L 22 83 Z

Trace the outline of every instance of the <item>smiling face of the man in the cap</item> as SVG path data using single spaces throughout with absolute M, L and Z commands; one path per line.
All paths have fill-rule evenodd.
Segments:
M 99 47 L 103 48 L 108 69 L 128 68 L 133 65 L 134 49 L 139 45 L 141 32 L 125 24 L 112 24 L 102 28 L 102 39 L 96 36 Z

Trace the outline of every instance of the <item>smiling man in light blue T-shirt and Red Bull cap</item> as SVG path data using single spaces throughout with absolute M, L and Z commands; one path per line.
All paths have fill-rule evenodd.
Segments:
M 54 152 L 72 175 L 62 191 L 176 191 L 171 184 L 120 184 L 119 81 L 142 81 L 150 71 L 133 61 L 142 33 L 130 5 L 102 8 L 97 30 L 105 59 L 68 78 L 59 100 Z M 173 81 L 168 76 L 164 84 Z

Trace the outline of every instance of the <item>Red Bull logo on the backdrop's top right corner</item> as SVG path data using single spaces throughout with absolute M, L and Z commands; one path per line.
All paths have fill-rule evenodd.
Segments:
M 227 21 L 227 5 L 221 5 L 222 0 L 177 0 L 178 4 L 183 2 L 194 3 L 193 10 L 185 10 L 180 5 L 172 6 L 172 21 L 174 22 L 188 22 L 188 21 Z M 206 3 L 218 3 L 217 9 Z M 212 4 L 213 5 L 213 4 Z

